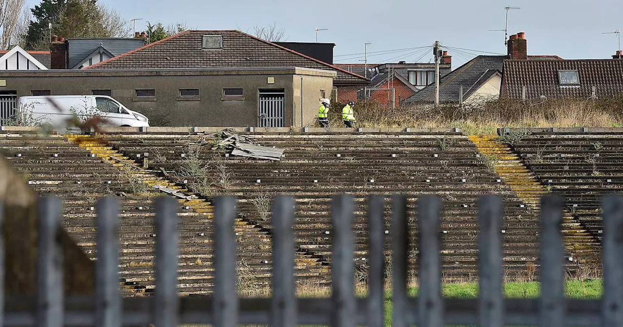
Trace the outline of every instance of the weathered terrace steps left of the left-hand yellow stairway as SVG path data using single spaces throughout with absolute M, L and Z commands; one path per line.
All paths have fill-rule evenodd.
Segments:
M 64 199 L 62 225 L 90 258 L 95 258 L 94 202 L 102 196 L 120 196 L 121 283 L 131 294 L 149 293 L 154 283 L 153 199 L 166 194 L 141 187 L 145 184 L 135 177 L 143 176 L 144 181 L 159 184 L 166 184 L 166 180 L 131 168 L 127 163 L 105 162 L 100 157 L 116 154 L 116 151 L 88 143 L 87 138 L 80 138 L 80 141 L 83 146 L 60 135 L 39 138 L 24 131 L 0 133 L 2 153 L 13 168 L 22 173 L 40 195 Z M 126 158 L 118 159 L 126 161 Z M 181 216 L 179 291 L 182 294 L 208 293 L 212 288 L 211 207 L 204 199 L 181 200 L 178 211 Z M 240 282 L 267 283 L 270 238 L 266 232 L 245 222 L 239 223 L 236 230 L 240 236 L 237 246 L 241 260 L 252 258 L 240 265 Z M 310 266 L 302 264 L 306 269 L 300 274 L 312 282 L 322 282 L 326 268 L 320 263 L 316 270 Z

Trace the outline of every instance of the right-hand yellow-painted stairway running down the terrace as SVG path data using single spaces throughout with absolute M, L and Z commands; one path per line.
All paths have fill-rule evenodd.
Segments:
M 525 166 L 520 156 L 513 153 L 510 146 L 503 143 L 495 135 L 470 136 L 485 158 L 492 164 L 493 169 L 502 177 L 518 196 L 533 210 L 540 210 L 540 197 L 549 191 L 546 184 Z M 527 141 L 527 140 L 526 140 Z M 528 141 L 529 144 L 533 144 Z M 555 191 L 554 191 L 555 192 Z M 568 194 L 564 194 L 568 199 Z M 597 240 L 586 225 L 569 211 L 563 214 L 563 235 L 565 247 L 568 251 L 569 266 L 573 269 L 573 262 L 581 265 L 598 265 L 599 240 Z

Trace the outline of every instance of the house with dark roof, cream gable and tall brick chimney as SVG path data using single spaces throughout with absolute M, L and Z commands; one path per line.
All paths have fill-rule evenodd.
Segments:
M 528 55 L 525 33 L 508 40 L 507 55 L 478 55 L 441 78 L 439 103 L 446 105 L 477 105 L 500 97 L 506 60 L 549 62 L 561 59 L 555 55 Z M 429 85 L 403 102 L 404 105 L 430 105 L 435 101 L 435 87 Z

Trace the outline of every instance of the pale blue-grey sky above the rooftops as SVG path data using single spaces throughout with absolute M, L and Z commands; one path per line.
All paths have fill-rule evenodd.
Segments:
M 39 0 L 27 0 L 29 6 Z M 559 55 L 564 59 L 604 59 L 614 55 L 615 34 L 623 31 L 621 0 L 98 0 L 116 9 L 141 30 L 145 22 L 164 25 L 185 22 L 193 29 L 240 29 L 276 24 L 288 41 L 335 43 L 335 62 L 363 63 L 364 43 L 369 63 L 429 62 L 432 50 L 421 48 L 439 40 L 453 55 L 453 68 L 477 54 L 506 54 L 503 29 L 505 6 L 508 32 L 526 32 L 528 54 Z M 407 49 L 397 52 L 389 50 Z M 351 55 L 353 54 L 353 55 Z

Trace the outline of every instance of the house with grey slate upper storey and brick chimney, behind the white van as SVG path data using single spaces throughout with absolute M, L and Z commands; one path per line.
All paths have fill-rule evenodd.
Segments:
M 135 38 L 105 37 L 96 39 L 67 39 L 52 36 L 50 53 L 52 69 L 83 69 L 104 60 L 125 54 L 145 45 L 145 34 Z

